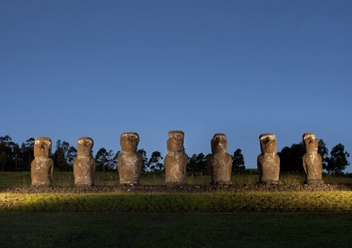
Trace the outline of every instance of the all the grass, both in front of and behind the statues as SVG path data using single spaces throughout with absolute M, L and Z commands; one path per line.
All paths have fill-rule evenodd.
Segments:
M 117 185 L 97 173 L 97 185 Z M 236 184 L 258 175 L 231 175 Z M 288 184 L 302 175 L 281 175 Z M 351 178 L 324 177 L 326 183 Z M 73 186 L 72 173 L 53 186 Z M 141 176 L 161 184 L 162 175 Z M 209 184 L 209 175 L 187 178 Z M 30 173 L 0 173 L 0 187 L 30 187 Z M 351 247 L 352 191 L 239 193 L 0 193 L 0 247 Z

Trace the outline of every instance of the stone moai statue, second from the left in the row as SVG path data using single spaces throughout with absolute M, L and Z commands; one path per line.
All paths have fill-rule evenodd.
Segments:
M 75 186 L 94 186 L 96 159 L 91 155 L 94 141 L 90 137 L 80 137 L 77 144 L 77 158 L 73 160 Z

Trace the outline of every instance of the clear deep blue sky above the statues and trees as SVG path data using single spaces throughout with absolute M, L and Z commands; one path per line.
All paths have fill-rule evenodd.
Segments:
M 262 133 L 277 151 L 315 133 L 352 158 L 351 13 L 349 0 L 3 0 L 0 136 L 53 150 L 87 136 L 95 154 L 134 131 L 165 157 L 168 131 L 189 156 L 225 133 L 256 168 Z

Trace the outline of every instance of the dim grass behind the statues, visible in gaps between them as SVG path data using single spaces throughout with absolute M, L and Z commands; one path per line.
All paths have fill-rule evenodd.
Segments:
M 254 174 L 254 173 L 253 173 Z M 187 184 L 210 184 L 211 178 L 209 173 L 196 172 L 194 177 L 187 176 Z M 303 173 L 281 173 L 280 180 L 283 184 L 303 184 L 305 176 Z M 352 183 L 352 178 L 341 176 L 324 176 L 326 184 L 333 183 Z M 259 175 L 251 175 L 249 171 L 232 173 L 231 182 L 233 184 L 256 184 L 259 181 Z M 74 177 L 72 172 L 58 172 L 53 174 L 53 187 L 73 187 Z M 140 183 L 142 185 L 161 185 L 165 182 L 164 173 L 142 173 Z M 98 172 L 94 177 L 96 186 L 116 186 L 119 184 L 117 173 Z M 29 171 L 21 172 L 0 172 L 0 187 L 30 187 L 31 179 Z

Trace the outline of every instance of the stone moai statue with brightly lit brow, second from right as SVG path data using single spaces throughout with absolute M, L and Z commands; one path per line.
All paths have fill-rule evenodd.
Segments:
M 257 166 L 259 183 L 277 184 L 280 173 L 280 158 L 276 152 L 276 137 L 271 133 L 259 136 L 261 142 L 261 155 L 258 155 Z

